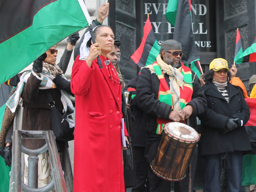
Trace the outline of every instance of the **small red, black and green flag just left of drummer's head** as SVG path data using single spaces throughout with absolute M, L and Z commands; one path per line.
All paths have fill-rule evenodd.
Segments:
M 151 65 L 156 61 L 160 52 L 160 46 L 155 37 L 150 18 L 147 17 L 143 28 L 143 38 L 139 48 L 131 56 L 132 60 L 139 66 Z

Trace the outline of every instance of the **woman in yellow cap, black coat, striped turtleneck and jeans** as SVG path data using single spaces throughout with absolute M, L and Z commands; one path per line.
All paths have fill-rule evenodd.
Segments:
M 240 89 L 229 83 L 225 59 L 214 59 L 204 75 L 207 109 L 201 120 L 201 146 L 204 159 L 204 192 L 221 191 L 220 177 L 225 169 L 228 191 L 242 191 L 243 154 L 251 150 L 244 125 L 249 108 Z

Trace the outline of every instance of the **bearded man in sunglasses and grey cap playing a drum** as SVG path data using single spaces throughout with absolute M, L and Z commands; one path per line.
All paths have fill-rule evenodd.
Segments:
M 150 167 L 164 125 L 189 118 L 189 126 L 196 129 L 196 116 L 206 109 L 206 98 L 198 77 L 183 65 L 182 54 L 181 43 L 176 40 L 163 41 L 156 62 L 144 67 L 139 75 L 137 101 L 145 112 L 145 157 L 151 192 L 170 191 L 170 181 L 155 175 Z M 191 160 L 192 185 L 196 162 L 197 150 Z M 175 182 L 175 192 L 188 191 L 188 181 L 187 176 Z

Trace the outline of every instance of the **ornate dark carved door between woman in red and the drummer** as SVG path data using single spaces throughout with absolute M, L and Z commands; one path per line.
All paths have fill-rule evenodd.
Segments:
M 113 29 L 115 39 L 121 41 L 119 47 L 121 59 L 118 63 L 125 82 L 137 76 L 138 67 L 131 59 L 141 41 L 141 23 L 137 18 L 140 12 L 138 1 L 110 0 L 109 25 Z

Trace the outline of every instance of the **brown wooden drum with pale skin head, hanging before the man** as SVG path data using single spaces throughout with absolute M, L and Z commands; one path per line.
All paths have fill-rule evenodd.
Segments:
M 176 126 L 173 127 L 175 132 L 164 128 L 151 169 L 165 180 L 180 181 L 185 178 L 185 171 L 199 141 L 199 135 L 185 124 L 176 122 L 168 124 L 165 128 Z

